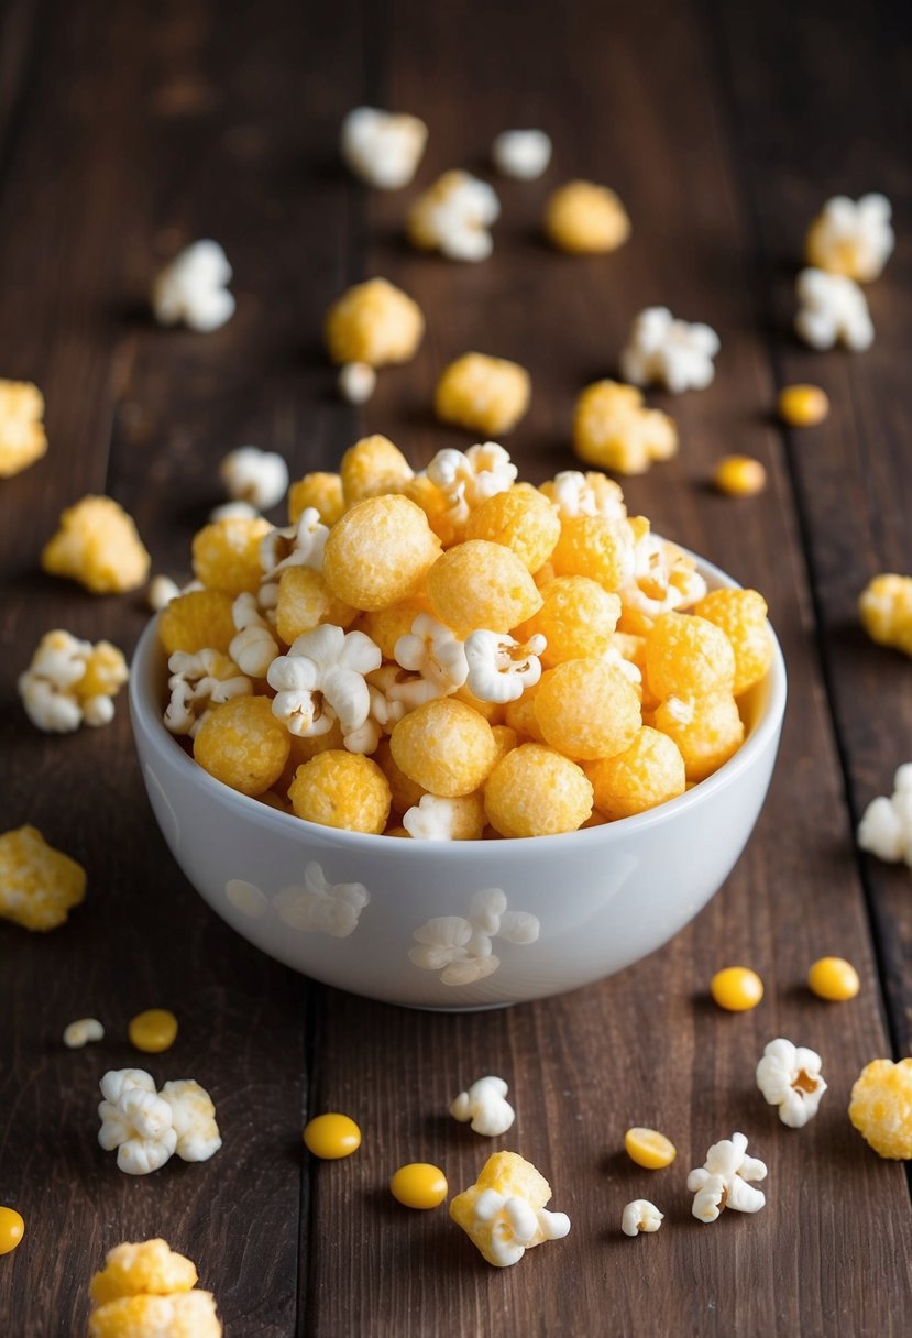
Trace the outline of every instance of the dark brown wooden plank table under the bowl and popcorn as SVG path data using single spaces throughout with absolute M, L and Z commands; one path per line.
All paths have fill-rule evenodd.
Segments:
M 845 1113 L 861 1066 L 908 1054 L 912 1030 L 909 872 L 853 842 L 863 807 L 912 757 L 912 668 L 856 615 L 871 575 L 912 571 L 909 33 L 879 8 L 7 0 L 0 375 L 43 388 L 51 448 L 0 484 L 0 823 L 37 826 L 84 863 L 90 887 L 53 934 L 0 925 L 0 1203 L 27 1220 L 0 1259 L 4 1335 L 82 1334 L 104 1251 L 154 1235 L 198 1263 L 230 1338 L 912 1331 L 904 1168 L 875 1156 Z M 421 183 L 481 169 L 508 126 L 550 130 L 548 175 L 497 185 L 489 262 L 408 250 L 413 191 L 372 194 L 340 169 L 341 116 L 362 102 L 427 119 Z M 634 234 L 615 256 L 540 242 L 546 194 L 572 175 L 627 203 Z M 877 341 L 813 353 L 790 333 L 805 226 L 828 195 L 872 189 L 892 198 L 900 238 L 869 289 Z M 237 316 L 211 336 L 156 329 L 151 276 L 206 235 L 234 265 Z M 377 273 L 415 294 L 429 329 L 360 412 L 334 393 L 321 318 Z M 707 391 L 651 397 L 674 412 L 682 448 L 629 480 L 630 508 L 762 589 L 789 665 L 778 768 L 746 854 L 663 951 L 540 1005 L 425 1016 L 267 961 L 166 851 L 123 700 L 110 728 L 70 737 L 23 714 L 16 676 L 43 632 L 130 650 L 147 617 L 140 595 L 92 598 L 40 574 L 58 514 L 108 492 L 155 570 L 186 577 L 227 450 L 257 442 L 300 476 L 384 431 L 421 467 L 468 444 L 429 403 L 444 361 L 477 347 L 531 369 L 534 408 L 509 447 L 540 480 L 572 467 L 575 395 L 616 368 L 633 316 L 655 302 L 709 321 L 722 353 Z M 788 381 L 825 387 L 822 427 L 776 421 Z M 707 487 L 733 450 L 766 464 L 761 496 Z M 857 966 L 853 1002 L 805 989 L 822 954 Z M 707 999 L 731 962 L 766 982 L 753 1013 Z M 168 1073 L 211 1092 L 225 1147 L 132 1179 L 99 1149 L 95 1107 L 102 1073 L 136 1062 L 126 1024 L 150 1005 L 178 1014 Z M 83 1014 L 107 1038 L 66 1050 L 63 1028 Z M 754 1089 L 774 1036 L 824 1056 L 830 1089 L 802 1132 Z M 501 1271 L 445 1210 L 409 1214 L 385 1188 L 415 1159 L 443 1165 L 453 1188 L 475 1179 L 489 1147 L 447 1107 L 485 1072 L 508 1080 L 519 1112 L 496 1145 L 540 1167 L 572 1219 L 566 1242 Z M 302 1151 L 302 1123 L 325 1109 L 364 1128 L 348 1161 Z M 634 1123 L 678 1145 L 655 1179 L 620 1151 Z M 686 1172 L 733 1129 L 769 1164 L 768 1207 L 706 1227 L 690 1216 Z M 631 1242 L 620 1210 L 639 1195 L 666 1222 Z

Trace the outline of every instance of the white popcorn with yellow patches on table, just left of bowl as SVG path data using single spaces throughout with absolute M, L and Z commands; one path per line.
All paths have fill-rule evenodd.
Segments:
M 110 641 L 79 641 L 58 629 L 41 637 L 17 681 L 28 719 L 48 733 L 98 728 L 114 720 L 114 697 L 130 677 Z

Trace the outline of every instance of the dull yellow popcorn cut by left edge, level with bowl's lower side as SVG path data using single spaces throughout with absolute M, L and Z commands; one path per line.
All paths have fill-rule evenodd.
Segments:
M 86 896 L 86 870 L 48 846 L 36 827 L 0 836 L 0 918 L 23 929 L 63 925 Z

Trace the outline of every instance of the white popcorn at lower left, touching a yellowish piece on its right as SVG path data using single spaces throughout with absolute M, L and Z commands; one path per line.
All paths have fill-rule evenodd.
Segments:
M 118 1167 L 127 1175 L 148 1175 L 174 1153 L 178 1135 L 173 1111 L 155 1092 L 144 1069 L 111 1069 L 100 1082 L 104 1100 L 98 1141 L 106 1152 L 118 1149 Z

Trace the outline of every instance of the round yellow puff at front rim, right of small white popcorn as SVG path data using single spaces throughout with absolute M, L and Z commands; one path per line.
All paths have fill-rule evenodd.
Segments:
M 501 836 L 554 836 L 582 827 L 592 812 L 592 787 L 554 748 L 520 744 L 488 776 L 484 807 Z

